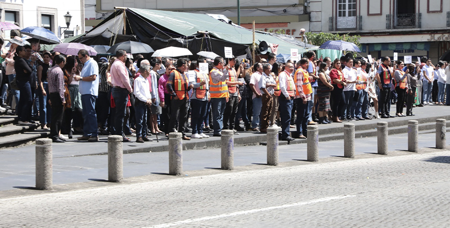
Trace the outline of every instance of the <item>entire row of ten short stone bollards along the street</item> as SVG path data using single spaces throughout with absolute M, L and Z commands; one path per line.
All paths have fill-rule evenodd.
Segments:
M 408 151 L 418 152 L 419 123 L 417 120 L 408 121 Z M 307 161 L 319 161 L 319 128 L 307 127 Z M 446 120 L 436 119 L 436 148 L 445 148 Z M 169 174 L 183 174 L 183 142 L 182 133 L 169 133 Z M 388 154 L 388 123 L 377 123 L 378 154 Z M 221 169 L 234 169 L 234 138 L 232 130 L 222 130 Z M 344 125 L 344 157 L 354 158 L 355 154 L 355 125 Z M 53 189 L 52 169 L 52 140 L 42 138 L 36 140 L 36 189 Z M 267 164 L 278 165 L 278 127 L 267 128 Z M 123 142 L 122 136 L 108 136 L 108 181 L 122 182 L 123 180 Z

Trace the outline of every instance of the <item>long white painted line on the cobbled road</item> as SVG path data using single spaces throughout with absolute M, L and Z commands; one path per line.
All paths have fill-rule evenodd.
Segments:
M 344 198 L 348 198 L 348 197 L 355 197 L 355 195 L 325 197 L 325 198 L 314 199 L 314 200 L 309 200 L 309 201 L 305 201 L 305 202 L 284 204 L 284 205 L 280 205 L 280 206 L 269 206 L 268 208 L 261 208 L 261 209 L 253 209 L 253 210 L 248 210 L 248 211 L 233 212 L 233 213 L 228 213 L 228 214 L 207 216 L 207 217 L 195 218 L 195 219 L 187 219 L 187 220 L 183 220 L 183 221 L 177 221 L 177 222 L 172 222 L 172 223 L 165 223 L 165 224 L 160 224 L 160 225 L 154 225 L 154 226 L 150 226 L 149 228 L 170 227 L 170 226 L 174 226 L 174 225 L 181 225 L 181 224 L 187 224 L 187 223 L 192 223 L 192 222 L 199 222 L 199 221 L 205 221 L 205 220 L 211 220 L 211 219 L 217 219 L 217 218 L 225 218 L 225 217 L 232 217 L 232 216 L 238 216 L 238 215 L 252 214 L 252 213 L 263 212 L 263 211 L 270 211 L 270 210 L 275 210 L 275 209 L 290 208 L 292 206 L 307 205 L 307 204 L 311 204 L 311 203 L 318 203 L 318 202 L 324 202 L 324 201 L 330 201 L 330 200 L 336 200 L 336 199 L 344 199 Z

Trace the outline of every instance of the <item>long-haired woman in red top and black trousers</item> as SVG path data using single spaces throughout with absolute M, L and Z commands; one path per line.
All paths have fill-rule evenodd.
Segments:
M 331 65 L 330 79 L 331 85 L 334 87 L 333 91 L 331 91 L 331 98 L 333 99 L 333 107 L 331 108 L 333 113 L 333 122 L 342 122 L 339 119 L 339 116 L 345 105 L 344 87 L 347 84 L 341 70 L 341 60 L 339 60 L 339 58 L 334 59 L 333 64 Z

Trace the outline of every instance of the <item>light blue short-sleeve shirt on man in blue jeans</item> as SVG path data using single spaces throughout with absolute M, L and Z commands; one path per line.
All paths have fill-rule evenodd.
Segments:
M 97 75 L 93 81 L 80 81 L 79 90 L 80 94 L 91 94 L 98 96 L 98 85 L 99 85 L 99 74 L 98 74 L 98 64 L 91 58 L 84 63 L 83 70 L 81 71 L 81 77 L 89 77 L 91 75 Z

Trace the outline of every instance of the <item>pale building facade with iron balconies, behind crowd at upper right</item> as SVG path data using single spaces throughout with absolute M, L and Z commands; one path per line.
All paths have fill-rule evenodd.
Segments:
M 308 9 L 311 32 L 361 35 L 364 57 L 450 58 L 450 1 L 311 0 Z

